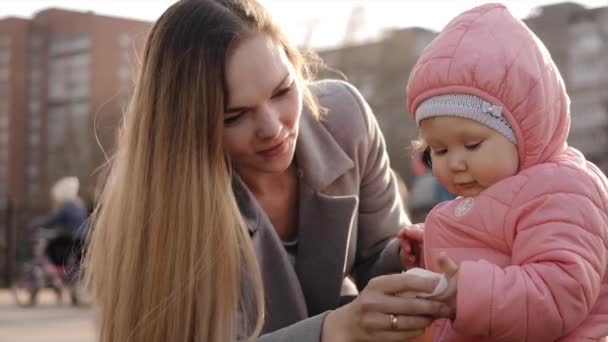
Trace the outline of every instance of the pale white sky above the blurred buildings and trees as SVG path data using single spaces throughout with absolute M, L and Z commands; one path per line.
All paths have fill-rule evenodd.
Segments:
M 356 12 L 359 28 L 351 39 L 374 39 L 391 28 L 410 26 L 439 31 L 450 19 L 487 0 L 259 0 L 297 44 L 313 48 L 340 45 L 345 40 L 349 17 Z M 608 0 L 573 0 L 587 7 L 608 6 Z M 32 17 L 49 7 L 99 14 L 156 20 L 175 0 L 0 0 L 0 19 Z M 503 0 L 518 17 L 524 18 L 538 6 L 559 0 Z

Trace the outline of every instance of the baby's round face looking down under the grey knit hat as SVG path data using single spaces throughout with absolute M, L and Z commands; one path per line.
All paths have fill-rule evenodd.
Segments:
M 420 134 L 431 148 L 433 174 L 453 194 L 477 196 L 517 173 L 517 146 L 477 121 L 431 117 L 420 122 Z

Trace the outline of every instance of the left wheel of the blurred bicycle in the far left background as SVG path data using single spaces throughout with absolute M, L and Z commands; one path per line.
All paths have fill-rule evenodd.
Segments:
M 38 292 L 44 287 L 42 267 L 26 263 L 11 284 L 11 292 L 18 306 L 29 307 L 37 303 Z

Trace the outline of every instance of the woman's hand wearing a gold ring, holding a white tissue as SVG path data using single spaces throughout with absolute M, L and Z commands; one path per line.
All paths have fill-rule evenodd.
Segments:
M 436 283 L 435 279 L 406 274 L 372 279 L 354 301 L 327 315 L 322 341 L 403 342 L 422 335 L 433 319 L 449 317 L 449 307 L 435 300 L 395 295 L 432 292 Z

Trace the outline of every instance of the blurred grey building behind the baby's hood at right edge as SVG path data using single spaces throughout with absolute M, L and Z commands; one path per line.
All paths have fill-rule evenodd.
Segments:
M 608 172 L 608 7 L 540 7 L 526 24 L 551 52 L 572 101 L 568 143 Z

